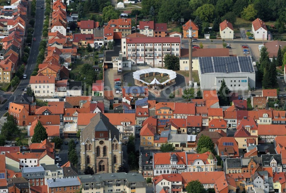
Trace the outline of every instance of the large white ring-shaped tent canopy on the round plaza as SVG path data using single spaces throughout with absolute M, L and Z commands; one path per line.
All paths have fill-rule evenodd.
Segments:
M 162 82 L 162 83 L 159 83 L 158 80 L 156 80 L 156 78 L 154 78 L 154 80 L 151 82 L 151 83 L 147 83 L 143 80 L 140 79 L 140 75 L 142 74 L 147 74 L 147 73 L 154 73 L 154 72 L 158 72 L 158 73 L 164 73 L 164 74 L 168 74 L 169 75 L 169 79 Z M 165 83 L 169 82 L 170 80 L 173 80 L 176 78 L 176 72 L 175 71 L 172 71 L 172 70 L 168 70 L 168 69 L 162 69 L 162 68 L 148 68 L 148 69 L 142 69 L 142 70 L 138 70 L 138 71 L 135 71 L 133 73 L 133 78 L 138 80 L 138 81 L 141 81 L 142 83 L 145 83 L 146 85 L 152 85 L 155 83 L 155 80 L 156 80 L 156 83 L 157 84 L 161 84 L 161 85 L 164 85 Z

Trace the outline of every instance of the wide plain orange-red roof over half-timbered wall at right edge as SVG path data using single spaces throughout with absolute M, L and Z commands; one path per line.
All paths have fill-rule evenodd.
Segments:
M 258 135 L 286 135 L 285 125 L 258 125 Z

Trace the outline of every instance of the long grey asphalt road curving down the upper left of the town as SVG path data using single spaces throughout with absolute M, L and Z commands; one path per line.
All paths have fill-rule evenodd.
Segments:
M 30 55 L 27 62 L 25 74 L 27 75 L 27 79 L 23 79 L 17 89 L 13 93 L 7 93 L 6 98 L 7 101 L 0 107 L 0 117 L 7 112 L 5 110 L 5 106 L 9 105 L 9 102 L 13 102 L 14 97 L 17 95 L 21 95 L 23 91 L 20 91 L 22 88 L 26 88 L 30 81 L 30 75 L 33 72 L 33 69 L 36 65 L 37 56 L 39 53 L 39 45 L 42 37 L 42 30 L 43 30 L 43 22 L 44 22 L 44 9 L 40 9 L 41 6 L 44 7 L 45 1 L 44 0 L 37 0 L 37 9 L 36 9 L 36 16 L 35 16 L 35 31 L 33 34 L 33 38 L 36 38 L 36 41 L 32 41 L 31 48 L 30 48 Z M 3 95 L 4 92 L 1 92 L 0 95 Z

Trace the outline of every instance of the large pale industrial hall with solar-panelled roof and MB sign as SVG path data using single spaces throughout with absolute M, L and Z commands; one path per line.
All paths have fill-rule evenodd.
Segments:
M 219 90 L 225 80 L 230 91 L 245 94 L 255 87 L 251 57 L 199 57 L 198 75 L 202 90 Z

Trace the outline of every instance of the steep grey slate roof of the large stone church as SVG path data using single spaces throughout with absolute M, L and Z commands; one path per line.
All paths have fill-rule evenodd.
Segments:
M 119 141 L 119 130 L 109 122 L 109 119 L 102 113 L 97 113 L 90 119 L 90 123 L 82 130 L 84 141 L 88 138 L 91 140 L 95 131 L 108 131 L 111 138 L 114 136 Z

